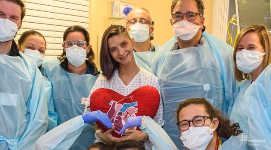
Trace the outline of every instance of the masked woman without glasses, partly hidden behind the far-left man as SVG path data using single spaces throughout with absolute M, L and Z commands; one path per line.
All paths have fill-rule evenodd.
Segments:
M 40 70 L 46 50 L 46 40 L 44 36 L 34 30 L 25 31 L 20 35 L 17 46 L 21 52 L 23 52 L 26 56 L 28 56 L 36 63 L 37 67 L 39 67 Z M 45 85 L 46 101 L 49 114 L 47 131 L 49 131 L 58 125 L 58 113 L 56 112 L 54 102 L 51 99 L 52 84 L 44 76 L 43 80 Z

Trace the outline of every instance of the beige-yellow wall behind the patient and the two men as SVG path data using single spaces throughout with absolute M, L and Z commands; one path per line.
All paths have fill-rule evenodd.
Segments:
M 111 4 L 113 0 L 89 0 L 89 32 L 92 48 L 94 50 L 97 62 L 99 48 L 98 34 L 102 34 L 111 24 Z M 155 31 L 153 43 L 162 45 L 173 36 L 170 23 L 170 7 L 172 0 L 120 0 L 122 2 L 135 4 L 136 7 L 144 7 L 151 14 L 152 20 L 155 21 Z M 213 0 L 205 1 L 205 26 L 209 33 L 212 33 L 213 24 Z M 117 20 L 116 20 L 117 21 Z

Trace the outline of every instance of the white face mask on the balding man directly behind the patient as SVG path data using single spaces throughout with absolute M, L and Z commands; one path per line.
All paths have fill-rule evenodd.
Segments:
M 149 36 L 149 26 L 136 22 L 130 26 L 129 35 L 134 38 L 136 42 L 144 42 L 150 38 Z

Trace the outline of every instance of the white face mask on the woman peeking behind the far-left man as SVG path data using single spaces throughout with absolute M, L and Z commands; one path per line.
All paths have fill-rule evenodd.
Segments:
M 44 55 L 39 50 L 24 49 L 24 54 L 33 60 L 38 67 L 41 66 Z

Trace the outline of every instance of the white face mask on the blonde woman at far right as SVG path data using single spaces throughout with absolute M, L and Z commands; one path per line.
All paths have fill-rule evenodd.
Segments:
M 264 51 L 264 50 L 262 50 Z M 241 50 L 236 52 L 237 68 L 244 73 L 251 73 L 262 64 L 265 52 L 257 50 Z

